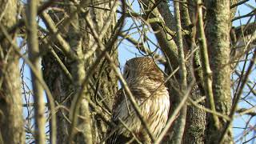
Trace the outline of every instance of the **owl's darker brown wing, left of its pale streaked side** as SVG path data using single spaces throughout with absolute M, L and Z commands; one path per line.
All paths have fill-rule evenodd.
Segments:
M 141 86 L 136 87 L 130 87 L 130 90 L 132 94 L 134 95 L 134 98 L 136 102 L 138 103 L 138 106 L 140 106 L 143 102 L 143 100 L 146 99 L 150 95 L 150 92 L 148 90 L 145 90 Z M 142 107 L 141 107 L 142 108 Z M 143 108 L 142 108 L 143 109 Z M 142 110 L 142 115 L 148 115 L 150 108 L 145 107 L 144 110 Z M 114 99 L 114 106 L 112 109 L 112 121 L 117 125 L 120 126 L 118 130 L 107 140 L 108 144 L 114 144 L 114 143 L 126 143 L 126 142 L 134 142 L 136 141 L 132 135 L 128 131 L 126 131 L 126 128 L 122 126 L 119 119 L 122 120 L 126 124 L 126 126 L 133 130 L 133 132 L 138 133 L 141 127 L 141 122 L 139 118 L 136 116 L 135 111 L 133 109 L 133 106 L 130 104 L 130 100 L 127 98 L 126 93 L 123 89 L 118 90 L 118 93 Z M 135 135 L 134 135 L 135 136 Z M 138 139 L 137 139 L 138 140 Z

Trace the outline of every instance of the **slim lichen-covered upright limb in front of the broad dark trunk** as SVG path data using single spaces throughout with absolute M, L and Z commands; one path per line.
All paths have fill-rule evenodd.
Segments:
M 84 1 L 86 2 L 86 1 Z M 70 26 L 68 31 L 68 39 L 71 50 L 74 50 L 77 59 L 74 60 L 74 62 L 71 63 L 71 74 L 74 78 L 74 91 L 75 95 L 79 94 L 79 91 L 81 90 L 82 99 L 79 101 L 81 104 L 78 106 L 78 112 L 76 114 L 81 114 L 84 118 L 83 119 L 77 119 L 73 117 L 70 117 L 72 120 L 72 126 L 70 128 L 70 143 L 88 143 L 92 144 L 92 130 L 91 130 L 91 120 L 90 120 L 90 110 L 89 110 L 89 102 L 88 99 L 90 98 L 89 92 L 87 90 L 88 83 L 84 88 L 82 88 L 82 81 L 86 77 L 86 65 L 84 61 L 84 52 L 82 50 L 82 34 L 79 33 L 79 17 L 78 17 L 78 7 L 74 5 L 74 2 L 68 2 L 70 4 L 69 7 L 69 13 L 74 14 L 73 18 L 70 20 Z M 77 12 L 77 13 L 76 13 Z M 75 97 L 76 98 L 76 97 Z M 73 101 L 75 102 L 76 99 L 73 98 Z M 71 110 L 73 108 L 71 107 Z M 77 117 L 77 116 L 75 116 Z M 73 120 L 74 119 L 74 120 Z M 80 132 L 75 132 L 74 128 L 78 127 L 78 130 L 81 130 Z M 78 139 L 73 139 L 74 136 L 78 136 Z

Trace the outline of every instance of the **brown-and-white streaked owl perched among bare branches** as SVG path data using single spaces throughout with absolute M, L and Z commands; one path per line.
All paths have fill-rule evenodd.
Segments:
M 132 58 L 126 62 L 123 77 L 134 95 L 146 120 L 151 133 L 157 138 L 162 128 L 166 126 L 170 109 L 169 94 L 164 85 L 164 76 L 152 58 Z M 118 90 L 113 106 L 112 121 L 118 130 L 107 140 L 108 144 L 130 142 L 133 138 L 130 131 L 122 125 L 119 119 L 131 130 L 138 140 L 143 142 L 145 128 L 130 104 L 124 90 Z M 136 142 L 134 142 L 136 143 Z

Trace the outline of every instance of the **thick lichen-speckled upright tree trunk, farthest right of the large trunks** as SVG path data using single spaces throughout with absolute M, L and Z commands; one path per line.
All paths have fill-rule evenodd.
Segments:
M 229 114 L 231 107 L 230 94 L 230 0 L 206 2 L 206 38 L 210 55 L 210 67 L 213 71 L 213 92 L 216 110 Z M 214 127 L 209 118 L 207 143 L 214 142 L 221 134 L 225 121 L 220 119 L 221 126 Z M 226 135 L 226 143 L 233 142 L 232 134 Z

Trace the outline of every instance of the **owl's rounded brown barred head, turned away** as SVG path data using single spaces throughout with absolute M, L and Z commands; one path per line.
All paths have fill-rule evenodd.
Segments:
M 154 81 L 164 81 L 162 71 L 159 70 L 154 60 L 149 57 L 138 57 L 128 60 L 123 75 L 126 80 L 133 78 L 150 78 L 150 80 Z

